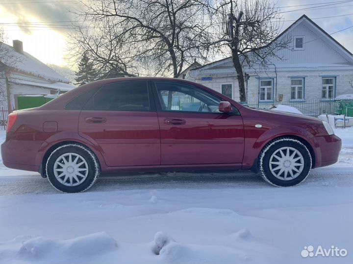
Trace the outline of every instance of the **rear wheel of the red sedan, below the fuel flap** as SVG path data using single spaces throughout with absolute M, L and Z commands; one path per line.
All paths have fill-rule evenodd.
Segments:
M 55 189 L 64 193 L 77 193 L 92 187 L 101 168 L 91 150 L 79 144 L 66 144 L 50 154 L 46 173 Z

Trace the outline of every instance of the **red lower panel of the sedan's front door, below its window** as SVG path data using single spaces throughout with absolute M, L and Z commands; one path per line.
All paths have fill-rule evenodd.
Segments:
M 158 112 L 158 119 L 161 165 L 242 163 L 244 128 L 240 115 Z M 185 123 L 174 125 L 168 120 Z

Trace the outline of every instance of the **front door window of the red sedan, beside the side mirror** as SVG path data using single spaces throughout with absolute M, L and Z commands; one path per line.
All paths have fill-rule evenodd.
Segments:
M 224 100 L 203 89 L 185 83 L 165 81 L 156 81 L 154 86 L 162 110 L 221 113 L 218 107 Z

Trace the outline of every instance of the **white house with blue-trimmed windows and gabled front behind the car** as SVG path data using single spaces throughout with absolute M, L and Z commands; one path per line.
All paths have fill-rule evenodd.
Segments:
M 249 74 L 248 102 L 329 101 L 337 95 L 353 93 L 353 55 L 315 22 L 303 15 L 277 38 L 293 40 L 293 46 L 279 51 L 266 69 L 243 66 Z M 276 41 L 276 40 L 275 40 Z M 238 82 L 230 58 L 191 69 L 186 79 L 222 92 L 239 101 Z

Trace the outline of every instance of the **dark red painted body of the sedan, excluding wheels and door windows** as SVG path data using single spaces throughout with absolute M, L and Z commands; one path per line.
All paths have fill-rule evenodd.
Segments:
M 71 99 L 84 91 L 136 79 L 191 84 L 230 102 L 240 115 L 65 109 Z M 105 121 L 86 122 L 86 118 L 97 117 Z M 18 111 L 16 122 L 1 145 L 1 154 L 6 167 L 39 171 L 55 145 L 77 142 L 96 154 L 103 172 L 250 169 L 262 148 L 280 136 L 301 140 L 313 156 L 313 167 L 337 162 L 341 140 L 328 135 L 316 118 L 249 109 L 210 88 L 185 80 L 118 78 L 93 82 L 39 108 Z

